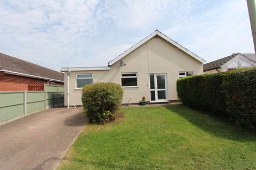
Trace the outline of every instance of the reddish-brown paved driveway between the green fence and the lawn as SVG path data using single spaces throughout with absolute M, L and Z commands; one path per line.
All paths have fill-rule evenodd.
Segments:
M 0 169 L 54 169 L 81 132 L 81 108 L 52 108 L 0 126 Z

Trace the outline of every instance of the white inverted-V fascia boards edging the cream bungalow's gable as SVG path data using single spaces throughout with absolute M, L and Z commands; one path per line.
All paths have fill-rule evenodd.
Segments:
M 158 30 L 156 30 L 155 32 L 151 33 L 148 37 L 142 39 L 139 43 L 135 44 L 134 46 L 132 46 L 131 48 L 129 48 L 128 50 L 126 50 L 124 53 L 122 53 L 121 55 L 119 55 L 118 57 L 114 58 L 114 60 L 110 61 L 108 63 L 109 66 L 115 64 L 117 61 L 121 60 L 123 57 L 125 57 L 127 54 L 131 53 L 134 49 L 138 48 L 139 46 L 141 46 L 142 44 L 146 43 L 149 39 L 155 37 L 156 35 L 158 35 L 159 37 L 162 37 L 163 39 L 165 39 L 166 41 L 168 41 L 169 43 L 171 43 L 172 45 L 174 45 L 175 47 L 179 48 L 180 50 L 182 50 L 183 52 L 187 53 L 188 55 L 190 55 L 191 57 L 194 57 L 196 60 L 198 60 L 201 63 L 205 63 L 205 60 L 203 60 L 203 58 L 197 56 L 196 54 L 190 52 L 190 50 L 188 50 L 187 48 L 181 46 L 180 44 L 178 44 L 177 42 L 173 41 L 171 38 L 165 36 L 162 32 L 159 32 Z

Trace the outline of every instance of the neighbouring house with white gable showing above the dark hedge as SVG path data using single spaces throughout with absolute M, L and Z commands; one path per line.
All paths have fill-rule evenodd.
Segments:
M 230 56 L 204 64 L 204 74 L 226 72 L 237 68 L 253 66 L 256 66 L 254 53 L 234 53 Z

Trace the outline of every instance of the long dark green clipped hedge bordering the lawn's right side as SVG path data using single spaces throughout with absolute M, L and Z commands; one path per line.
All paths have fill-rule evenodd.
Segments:
M 194 75 L 177 81 L 184 105 L 227 118 L 231 124 L 256 129 L 256 68 Z

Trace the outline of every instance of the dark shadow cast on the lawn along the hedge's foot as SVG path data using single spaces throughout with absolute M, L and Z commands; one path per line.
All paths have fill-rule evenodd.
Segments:
M 235 125 L 230 125 L 227 121 L 221 120 L 220 117 L 207 115 L 202 111 L 189 108 L 182 104 L 165 107 L 183 118 L 186 118 L 186 120 L 197 128 L 215 137 L 233 141 L 256 141 L 255 131 L 249 131 Z

